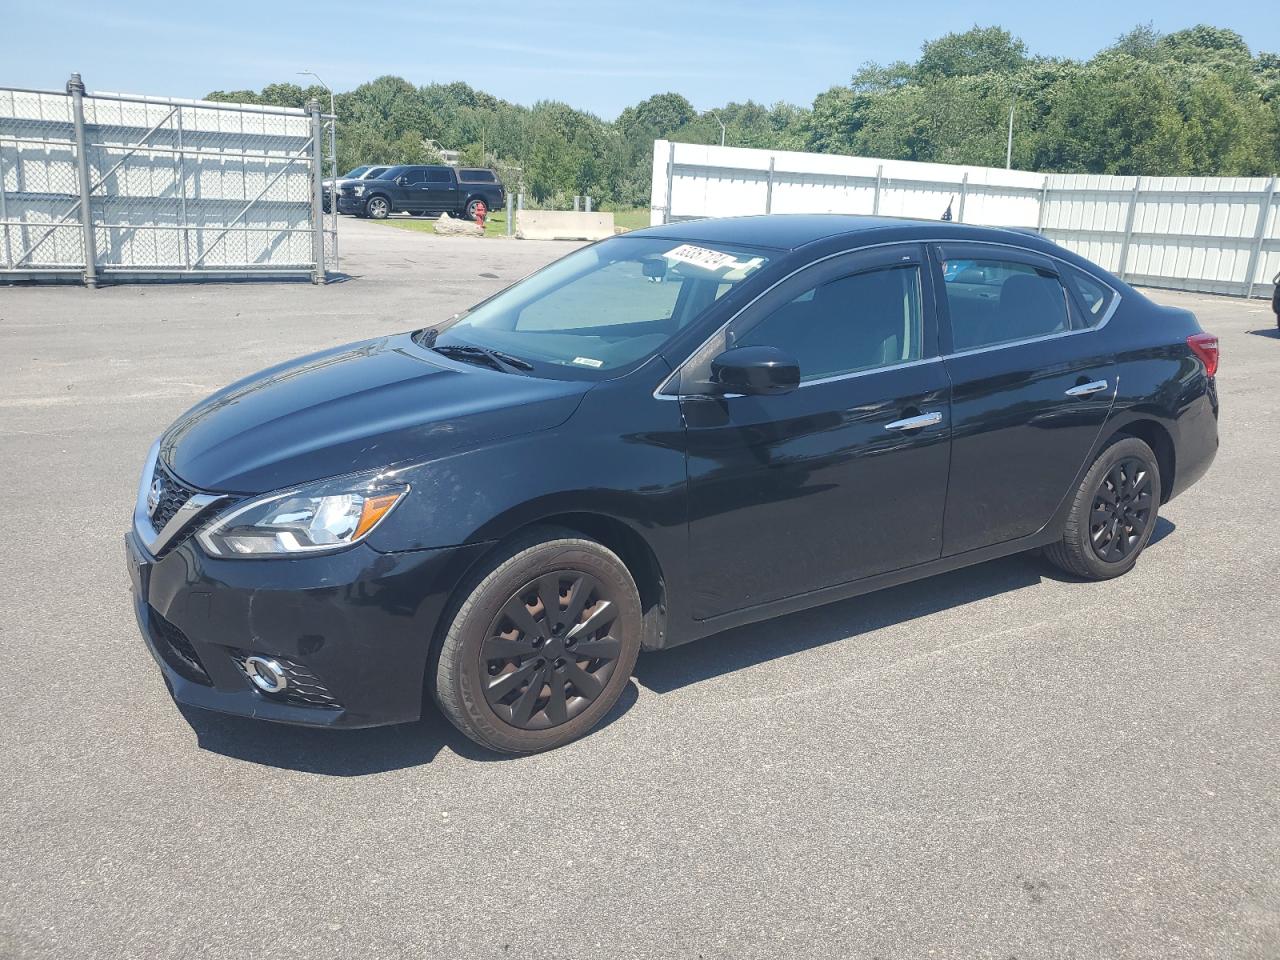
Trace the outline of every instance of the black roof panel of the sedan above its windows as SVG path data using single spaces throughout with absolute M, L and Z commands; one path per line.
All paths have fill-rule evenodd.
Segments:
M 868 243 L 895 239 L 989 239 L 1032 250 L 1051 247 L 1033 232 L 1002 227 L 973 227 L 947 220 L 911 220 L 852 214 L 765 214 L 684 220 L 632 230 L 628 237 L 668 238 L 703 243 L 739 243 L 796 250 L 833 237 L 865 234 Z M 851 244 L 854 246 L 854 244 Z

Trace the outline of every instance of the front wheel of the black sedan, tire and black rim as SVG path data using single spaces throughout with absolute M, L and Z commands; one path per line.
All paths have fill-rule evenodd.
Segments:
M 607 547 L 570 530 L 534 531 L 460 595 L 435 700 L 481 746 L 530 754 L 577 740 L 630 682 L 640 595 Z

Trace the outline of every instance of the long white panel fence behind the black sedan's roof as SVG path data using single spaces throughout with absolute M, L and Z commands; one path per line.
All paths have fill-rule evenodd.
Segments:
M 650 223 L 841 212 L 1024 227 L 1133 283 L 1270 297 L 1276 178 L 1101 177 L 659 140 Z

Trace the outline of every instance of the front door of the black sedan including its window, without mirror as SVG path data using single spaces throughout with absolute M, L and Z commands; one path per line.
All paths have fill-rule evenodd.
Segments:
M 850 253 L 730 325 L 726 346 L 778 347 L 801 383 L 680 401 L 695 617 L 940 556 L 950 411 L 929 283 L 916 244 Z

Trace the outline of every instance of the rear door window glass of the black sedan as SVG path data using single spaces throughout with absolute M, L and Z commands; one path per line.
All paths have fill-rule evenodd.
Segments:
M 955 349 L 1071 329 L 1056 276 L 1012 260 L 950 260 L 942 268 Z

